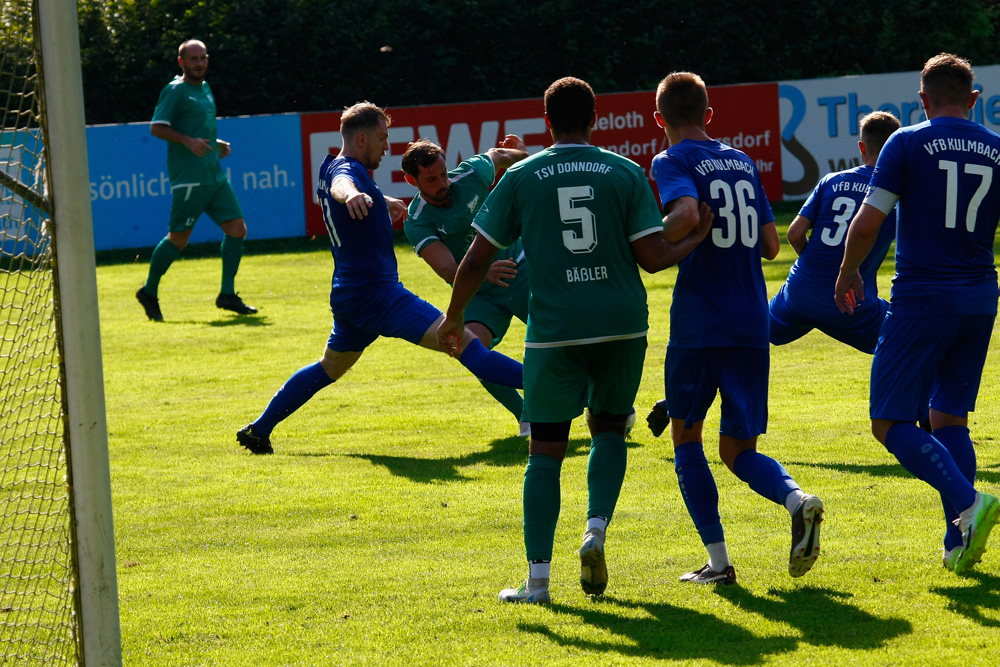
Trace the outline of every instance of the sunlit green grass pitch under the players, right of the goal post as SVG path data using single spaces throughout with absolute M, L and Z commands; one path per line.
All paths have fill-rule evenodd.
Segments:
M 780 218 L 787 224 L 794 209 Z M 210 224 L 203 222 L 202 224 Z M 781 229 L 784 237 L 784 229 Z M 296 245 L 296 244 L 292 244 Z M 788 513 L 706 451 L 738 584 L 677 577 L 706 562 L 667 438 L 642 417 L 661 395 L 676 269 L 646 276 L 649 352 L 629 470 L 609 530 L 611 582 L 578 584 L 589 436 L 563 466 L 549 606 L 501 606 L 526 575 L 517 424 L 456 361 L 381 340 L 254 457 L 235 431 L 331 324 L 325 239 L 258 250 L 237 287 L 253 318 L 214 307 L 220 262 L 176 263 L 166 321 L 134 292 L 148 254 L 98 269 L 122 640 L 128 665 L 995 665 L 1000 536 L 959 578 L 941 567 L 939 500 L 868 431 L 870 358 L 820 334 L 772 348 L 762 452 L 820 495 L 822 556 L 787 574 Z M 261 246 L 257 246 L 260 248 Z M 404 283 L 447 286 L 405 246 Z M 769 294 L 794 253 L 765 267 Z M 888 294 L 891 261 L 881 279 Z M 520 359 L 524 329 L 500 349 Z M 1000 487 L 1000 338 L 971 428 L 982 489 Z M 717 405 L 707 433 L 718 428 Z

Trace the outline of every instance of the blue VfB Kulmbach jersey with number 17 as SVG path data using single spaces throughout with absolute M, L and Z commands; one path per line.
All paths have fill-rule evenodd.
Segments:
M 1000 136 L 964 118 L 902 128 L 871 184 L 899 196 L 893 311 L 995 314 Z

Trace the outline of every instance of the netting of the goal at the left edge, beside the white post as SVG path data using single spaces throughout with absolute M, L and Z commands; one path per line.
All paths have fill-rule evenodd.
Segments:
M 36 15 L 0 3 L 0 665 L 79 662 Z

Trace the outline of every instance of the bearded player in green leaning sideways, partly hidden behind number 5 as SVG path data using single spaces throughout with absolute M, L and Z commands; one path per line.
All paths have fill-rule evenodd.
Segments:
M 432 141 L 415 141 L 403 153 L 406 182 L 417 188 L 403 232 L 413 249 L 449 285 L 475 236 L 472 220 L 486 201 L 499 172 L 528 157 L 520 137 L 508 134 L 498 148 L 473 155 L 448 170 L 444 150 Z M 528 321 L 528 269 L 520 240 L 504 250 L 466 308 L 466 326 L 492 348 L 503 340 L 511 317 Z M 486 391 L 520 421 L 523 400 L 513 387 L 480 380 Z M 528 435 L 521 422 L 520 435 Z

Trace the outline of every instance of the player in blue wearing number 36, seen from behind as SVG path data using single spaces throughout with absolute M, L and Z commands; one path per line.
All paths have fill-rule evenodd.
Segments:
M 753 161 L 708 136 L 712 108 L 701 77 L 667 76 L 657 88 L 656 109 L 656 122 L 670 143 L 652 165 L 669 212 L 667 238 L 690 233 L 698 224 L 699 202 L 708 202 L 715 213 L 711 234 L 680 263 L 664 364 L 677 480 L 708 550 L 708 564 L 681 581 L 736 581 L 702 445 L 705 415 L 716 393 L 722 395 L 719 455 L 751 489 L 791 514 L 788 571 L 800 577 L 819 556 L 823 503 L 757 451 L 757 436 L 767 428 L 770 352 L 761 257 L 774 259 L 779 246 L 771 206 Z

